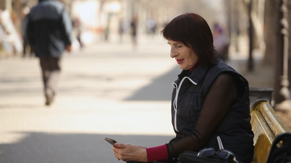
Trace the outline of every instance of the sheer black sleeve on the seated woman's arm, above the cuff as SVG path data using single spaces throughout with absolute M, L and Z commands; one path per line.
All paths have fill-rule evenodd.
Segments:
M 227 73 L 220 74 L 205 98 L 192 134 L 167 144 L 169 158 L 179 157 L 186 150 L 200 149 L 222 121 L 236 96 L 237 90 L 232 76 Z

